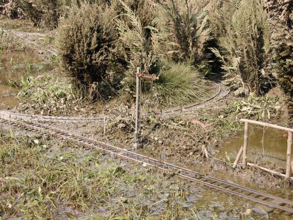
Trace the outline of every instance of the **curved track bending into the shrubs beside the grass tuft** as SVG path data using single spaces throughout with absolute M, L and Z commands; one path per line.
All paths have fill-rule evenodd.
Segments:
M 191 104 L 188 106 L 183 106 L 182 108 L 176 108 L 176 109 L 162 111 L 162 115 L 178 114 L 178 113 L 188 112 L 191 110 L 196 110 L 196 109 L 202 108 L 204 106 L 207 106 L 211 103 L 221 101 L 222 99 L 226 98 L 229 95 L 230 89 L 227 88 L 222 82 L 217 81 L 217 82 L 214 82 L 214 84 L 216 85 L 216 87 L 218 89 L 217 89 L 217 92 L 209 99 L 207 99 L 203 102 L 200 102 L 200 103 Z

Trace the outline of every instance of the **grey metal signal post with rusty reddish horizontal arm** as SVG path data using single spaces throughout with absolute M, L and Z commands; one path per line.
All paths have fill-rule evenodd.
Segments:
M 157 80 L 155 74 L 148 75 L 141 73 L 141 68 L 137 67 L 136 71 L 136 104 L 135 104 L 135 132 L 133 133 L 133 148 L 138 149 L 141 147 L 140 142 L 140 129 L 141 129 L 141 78 Z

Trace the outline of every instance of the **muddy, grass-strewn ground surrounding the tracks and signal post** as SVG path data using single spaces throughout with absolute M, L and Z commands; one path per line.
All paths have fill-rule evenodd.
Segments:
M 36 56 L 53 66 L 53 70 L 38 74 L 25 87 L 19 85 L 20 104 L 10 110 L 55 116 L 107 115 L 105 135 L 103 124 L 99 123 L 54 123 L 54 126 L 131 148 L 133 103 L 125 103 L 123 97 L 94 103 L 81 99 L 52 56 L 52 33 L 36 30 L 29 23 L 10 23 L 3 19 L 0 24 L 5 29 L 1 38 L 3 51 L 35 51 L 39 53 Z M 158 108 L 154 111 L 143 102 L 143 149 L 139 153 L 292 199 L 291 190 L 285 188 L 287 184 L 282 178 L 249 168 L 233 170 L 229 154 L 219 156 L 225 138 L 241 131 L 243 125 L 239 119 L 242 117 L 286 125 L 288 118 L 283 114 L 282 103 L 281 97 L 243 99 L 231 93 L 225 100 L 202 109 L 162 117 L 156 113 Z M 82 146 L 7 124 L 0 123 L 0 128 L 3 171 L 0 217 L 3 219 L 263 218 L 251 213 L 253 204 L 176 176 L 157 174 Z M 207 149 L 209 158 L 205 158 L 203 149 Z M 271 217 L 278 219 L 274 214 Z

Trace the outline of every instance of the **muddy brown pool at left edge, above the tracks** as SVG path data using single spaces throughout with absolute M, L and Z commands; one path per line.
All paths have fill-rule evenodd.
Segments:
M 21 81 L 52 69 L 38 53 L 0 52 L 0 109 L 15 107 L 19 103 L 17 95 L 22 86 Z

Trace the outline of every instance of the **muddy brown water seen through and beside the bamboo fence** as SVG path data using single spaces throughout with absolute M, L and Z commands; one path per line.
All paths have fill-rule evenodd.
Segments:
M 253 163 L 269 162 L 275 168 L 286 168 L 287 154 L 287 132 L 272 128 L 251 127 L 248 142 L 248 161 Z M 227 138 L 219 148 L 217 157 L 227 159 L 231 162 L 236 158 L 239 149 L 243 146 L 244 132 L 238 132 Z M 227 153 L 226 153 L 227 152 Z M 282 170 L 279 170 L 282 171 Z

